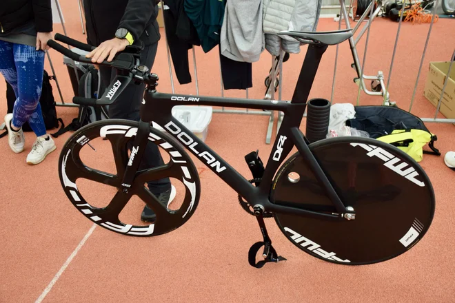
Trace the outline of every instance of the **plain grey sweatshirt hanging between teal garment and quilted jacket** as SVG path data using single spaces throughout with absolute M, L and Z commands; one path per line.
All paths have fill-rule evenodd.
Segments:
M 221 54 L 235 61 L 256 62 L 264 50 L 262 0 L 228 0 L 221 28 Z

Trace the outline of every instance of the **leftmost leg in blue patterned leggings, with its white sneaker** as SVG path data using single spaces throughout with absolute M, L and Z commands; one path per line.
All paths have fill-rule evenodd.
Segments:
M 17 70 L 14 64 L 14 48 L 13 43 L 0 40 L 0 73 L 5 77 L 5 80 L 10 83 L 14 94 L 17 97 Z M 8 129 L 8 145 L 15 153 L 23 151 L 25 145 L 25 137 L 21 127 L 12 125 L 12 114 L 6 114 L 5 124 Z

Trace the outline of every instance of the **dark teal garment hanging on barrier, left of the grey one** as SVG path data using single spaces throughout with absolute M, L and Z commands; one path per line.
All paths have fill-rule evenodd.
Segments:
M 192 21 L 205 53 L 220 43 L 225 0 L 184 0 L 185 13 Z

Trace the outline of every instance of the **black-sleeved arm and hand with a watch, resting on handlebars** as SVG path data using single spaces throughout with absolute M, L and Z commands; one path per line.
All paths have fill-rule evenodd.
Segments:
M 117 28 L 128 30 L 132 36 L 129 38 L 132 39 L 114 38 L 104 41 L 85 57 L 92 58 L 93 63 L 101 63 L 106 58 L 108 58 L 108 62 L 112 61 L 117 52 L 125 50 L 127 45 L 139 40 L 145 30 L 145 26 L 155 13 L 155 8 L 156 0 L 129 0 Z

